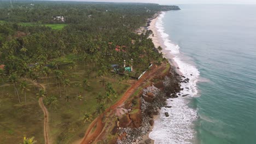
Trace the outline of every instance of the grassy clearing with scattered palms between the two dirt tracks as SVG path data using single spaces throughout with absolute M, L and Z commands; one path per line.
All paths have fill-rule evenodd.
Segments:
M 62 97 L 60 97 L 59 88 L 56 85 L 55 79 L 49 80 L 50 85 L 45 83 L 47 95 L 56 95 L 58 99 L 58 105 L 55 109 L 51 110 L 51 107 L 46 105 L 50 113 L 50 138 L 54 143 L 71 143 L 81 139 L 84 136 L 86 128 L 89 126 L 89 122 L 84 123 L 83 121 L 84 113 L 90 113 L 92 119 L 98 115 L 96 112 L 98 105 L 96 97 L 99 93 L 102 95 L 105 93 L 104 86 L 100 82 L 102 79 L 96 77 L 95 71 L 92 72 L 88 79 L 90 86 L 84 93 L 82 81 L 88 78 L 88 75 L 85 74 L 83 65 L 79 66 L 77 70 L 70 70 L 68 74 L 69 80 L 71 81 L 70 86 L 67 88 L 69 95 L 68 101 L 66 100 L 66 92 L 63 88 L 61 90 Z M 86 67 L 86 69 L 89 68 Z M 118 83 L 118 79 L 120 79 L 119 75 L 114 78 L 111 75 L 107 75 L 106 77 L 111 78 L 110 80 L 106 80 L 106 82 L 110 82 L 115 91 L 117 91 L 117 98 L 114 98 L 112 101 L 114 103 L 130 85 Z M 82 95 L 82 100 L 78 100 L 77 95 Z M 106 105 L 106 107 L 108 106 L 110 104 Z

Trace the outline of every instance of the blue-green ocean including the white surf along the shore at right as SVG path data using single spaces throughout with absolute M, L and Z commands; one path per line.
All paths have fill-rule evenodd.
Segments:
M 156 28 L 181 73 L 149 134 L 155 143 L 256 143 L 256 5 L 179 5 Z M 165 117 L 168 112 L 170 117 Z

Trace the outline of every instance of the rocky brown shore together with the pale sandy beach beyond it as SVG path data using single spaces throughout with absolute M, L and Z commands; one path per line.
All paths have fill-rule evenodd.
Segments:
M 155 27 L 159 14 L 161 13 L 159 12 L 151 19 L 148 19 L 147 27 L 143 27 L 143 29 L 150 29 L 153 31 L 154 37 L 150 38 L 152 38 L 155 47 L 162 46 L 162 41 L 159 38 Z M 161 52 L 164 53 L 165 51 Z M 164 53 L 164 56 L 165 55 L 166 53 Z M 189 79 L 184 79 L 184 76 L 179 72 L 176 63 L 173 63 L 171 59 L 168 59 L 168 62 L 171 63 L 171 65 L 167 73 L 154 77 L 154 79 L 149 82 L 149 85 L 144 87 L 141 92 L 135 96 L 135 99 L 132 99 L 132 102 L 136 101 L 136 98 L 139 99 L 139 101 L 137 101 L 139 107 L 134 107 L 132 103 L 131 105 L 126 104 L 126 109 L 128 111 L 134 111 L 134 109 L 138 110 L 135 119 L 133 116 L 134 113 L 118 118 L 119 128 L 117 133 L 119 139 L 117 143 L 154 143 L 154 140 L 149 138 L 149 133 L 153 129 L 154 119 L 158 117 L 159 109 L 161 109 L 161 107 L 171 109 L 171 106 L 167 105 L 166 99 L 186 96 L 177 95 L 177 93 L 182 90 L 180 83 L 184 81 L 188 82 Z M 165 112 L 165 116 L 168 117 L 169 114 Z

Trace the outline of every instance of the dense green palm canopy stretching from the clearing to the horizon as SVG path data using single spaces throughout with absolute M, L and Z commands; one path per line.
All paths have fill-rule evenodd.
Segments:
M 0 62 L 5 64 L 7 74 L 19 75 L 25 75 L 31 63 L 56 63 L 55 58 L 69 53 L 103 62 L 120 63 L 125 57 L 143 64 L 158 61 L 159 54 L 153 53 L 154 45 L 147 38 L 150 33 L 137 35 L 133 31 L 161 9 L 173 8 L 158 4 L 10 2 L 0 2 Z M 56 16 L 63 16 L 63 20 L 57 20 Z M 19 25 L 24 22 L 38 24 Z M 40 23 L 68 25 L 55 31 Z M 117 45 L 127 47 L 125 55 L 114 50 Z M 142 54 L 143 58 L 138 57 Z

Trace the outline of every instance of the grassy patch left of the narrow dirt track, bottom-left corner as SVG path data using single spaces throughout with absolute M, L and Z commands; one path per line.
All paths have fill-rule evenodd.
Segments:
M 44 143 L 43 123 L 44 115 L 38 105 L 38 98 L 34 87 L 27 92 L 27 105 L 24 94 L 18 89 L 21 105 L 14 94 L 13 85 L 0 84 L 0 141 L 1 143 L 22 143 L 23 137 L 34 136 L 38 143 Z

